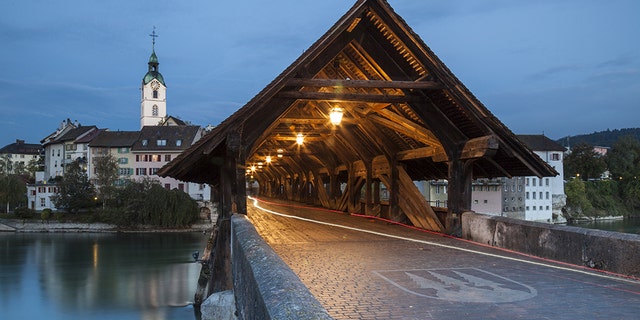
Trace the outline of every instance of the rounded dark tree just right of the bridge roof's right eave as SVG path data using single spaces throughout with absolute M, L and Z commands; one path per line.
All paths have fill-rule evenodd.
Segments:
M 607 164 L 600 154 L 593 150 L 593 146 L 580 143 L 571 149 L 571 153 L 564 158 L 565 180 L 580 176 L 582 180 L 597 179 L 607 169 Z

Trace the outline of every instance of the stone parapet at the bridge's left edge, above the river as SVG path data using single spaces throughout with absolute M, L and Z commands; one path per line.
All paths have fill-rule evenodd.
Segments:
M 332 319 L 244 215 L 231 217 L 238 319 Z

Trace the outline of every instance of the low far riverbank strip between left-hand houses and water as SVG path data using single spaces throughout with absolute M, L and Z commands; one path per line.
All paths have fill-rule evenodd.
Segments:
M 138 226 L 136 228 L 121 228 L 108 223 L 78 223 L 38 221 L 21 219 L 0 219 L 0 232 L 193 232 L 210 231 L 213 223 L 201 222 L 190 228 L 161 229 L 153 226 Z

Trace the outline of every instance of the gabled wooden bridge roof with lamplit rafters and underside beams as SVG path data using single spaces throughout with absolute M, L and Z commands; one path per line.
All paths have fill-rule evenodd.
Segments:
M 344 110 L 339 126 L 329 121 L 335 106 Z M 305 137 L 302 146 L 295 142 L 298 133 Z M 557 174 L 384 0 L 357 1 L 267 87 L 159 174 L 215 183 L 219 170 L 212 167 L 224 163 L 230 135 L 240 138 L 247 165 L 271 156 L 274 162 L 263 169 L 271 176 L 385 157 L 405 164 L 413 180 L 446 179 L 452 156 L 476 157 L 474 177 Z M 492 152 L 485 154 L 480 149 L 487 145 Z

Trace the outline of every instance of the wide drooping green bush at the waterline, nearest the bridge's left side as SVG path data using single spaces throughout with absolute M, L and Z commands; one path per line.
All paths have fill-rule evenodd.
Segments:
M 102 211 L 102 218 L 122 227 L 151 225 L 184 228 L 198 219 L 198 204 L 188 194 L 167 190 L 153 180 L 132 182 L 120 189 L 118 201 Z

